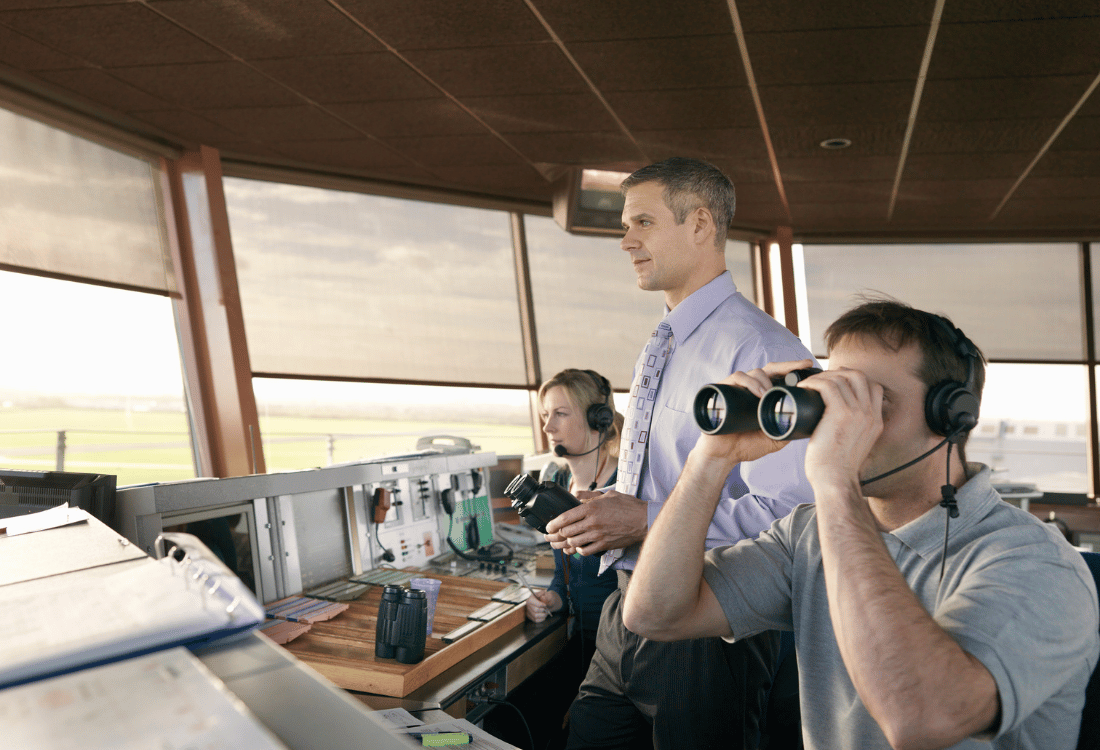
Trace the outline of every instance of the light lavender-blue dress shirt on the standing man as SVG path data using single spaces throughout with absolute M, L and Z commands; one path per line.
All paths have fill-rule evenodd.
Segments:
M 661 374 L 649 457 L 638 485 L 638 497 L 648 504 L 650 527 L 698 439 L 692 413 L 698 389 L 736 371 L 812 356 L 798 337 L 745 299 L 728 273 L 667 311 L 664 320 L 672 327 L 672 352 Z M 755 538 L 794 506 L 813 503 L 804 466 L 806 443 L 794 441 L 729 474 L 706 533 L 707 549 Z M 628 548 L 616 567 L 632 569 L 638 549 Z

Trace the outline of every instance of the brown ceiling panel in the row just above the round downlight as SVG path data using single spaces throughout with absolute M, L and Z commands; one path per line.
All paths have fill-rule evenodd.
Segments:
M 913 101 L 909 80 L 818 86 L 763 86 L 760 101 L 769 126 L 799 126 L 807 122 L 837 128 L 866 122 L 904 122 Z M 850 137 L 850 136 L 845 136 Z

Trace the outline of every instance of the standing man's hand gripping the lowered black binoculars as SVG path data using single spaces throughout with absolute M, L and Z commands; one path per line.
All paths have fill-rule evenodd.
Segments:
M 550 545 L 565 554 L 596 554 L 636 544 L 646 538 L 646 503 L 610 489 L 578 493 L 581 505 L 547 523 Z

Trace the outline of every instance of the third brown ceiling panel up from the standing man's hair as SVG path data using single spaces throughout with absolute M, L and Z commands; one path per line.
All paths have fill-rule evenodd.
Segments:
M 604 93 L 746 86 L 733 34 L 569 45 L 581 69 Z

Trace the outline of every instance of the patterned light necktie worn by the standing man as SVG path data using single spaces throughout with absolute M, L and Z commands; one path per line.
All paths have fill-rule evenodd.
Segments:
M 626 421 L 623 424 L 622 450 L 619 451 L 618 479 L 615 489 L 624 495 L 638 493 L 638 482 L 641 467 L 646 461 L 649 445 L 649 424 L 653 419 L 653 404 L 657 399 L 657 387 L 661 382 L 664 362 L 669 359 L 669 341 L 672 328 L 667 321 L 661 321 L 649 338 L 641 363 L 630 385 L 630 402 L 626 408 Z M 623 556 L 623 550 L 607 550 L 600 561 L 600 572 L 603 573 Z

